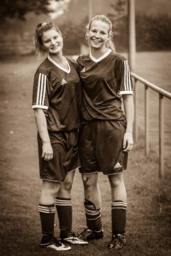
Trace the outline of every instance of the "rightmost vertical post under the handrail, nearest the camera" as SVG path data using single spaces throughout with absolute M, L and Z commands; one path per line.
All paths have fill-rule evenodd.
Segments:
M 164 177 L 164 98 L 159 94 L 159 178 Z

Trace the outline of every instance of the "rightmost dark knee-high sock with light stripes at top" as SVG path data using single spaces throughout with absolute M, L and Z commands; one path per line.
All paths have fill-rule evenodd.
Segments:
M 111 202 L 111 226 L 113 235 L 126 232 L 126 208 L 127 203 L 123 201 Z

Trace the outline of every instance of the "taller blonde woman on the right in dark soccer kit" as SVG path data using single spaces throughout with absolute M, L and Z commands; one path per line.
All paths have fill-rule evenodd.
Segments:
M 98 173 L 109 178 L 111 188 L 111 242 L 121 249 L 126 243 L 126 171 L 133 148 L 133 87 L 128 60 L 116 53 L 109 18 L 96 15 L 87 25 L 89 53 L 79 55 L 82 82 L 82 127 L 79 129 L 80 173 L 84 184 L 87 228 L 80 238 L 100 239 L 101 193 Z M 123 112 L 122 101 L 125 112 Z

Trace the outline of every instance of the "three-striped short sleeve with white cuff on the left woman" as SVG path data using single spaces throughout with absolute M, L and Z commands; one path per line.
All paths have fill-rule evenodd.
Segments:
M 43 73 L 35 73 L 33 82 L 32 108 L 48 110 L 48 78 Z

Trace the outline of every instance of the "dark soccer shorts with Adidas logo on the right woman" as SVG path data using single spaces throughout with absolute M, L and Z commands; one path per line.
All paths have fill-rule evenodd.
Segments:
M 79 159 L 81 174 L 102 171 L 120 174 L 126 171 L 128 153 L 123 152 L 126 121 L 94 120 L 79 129 Z

